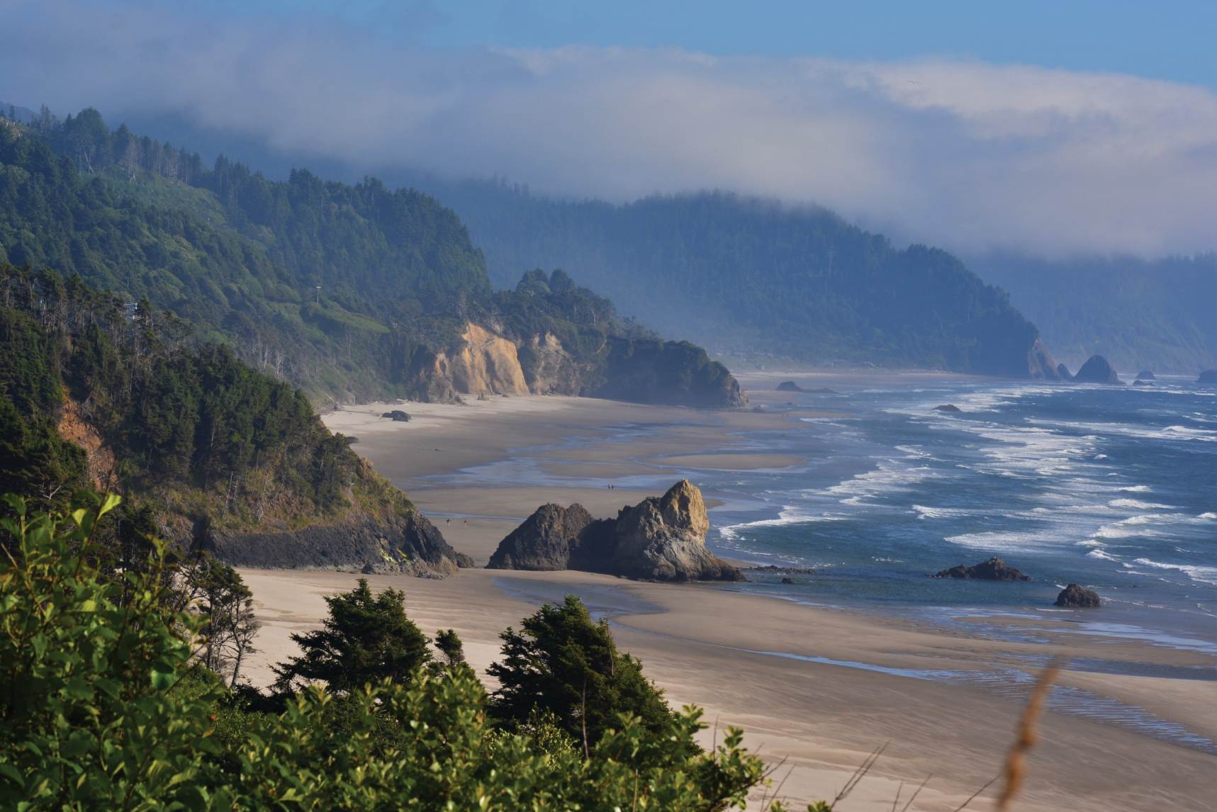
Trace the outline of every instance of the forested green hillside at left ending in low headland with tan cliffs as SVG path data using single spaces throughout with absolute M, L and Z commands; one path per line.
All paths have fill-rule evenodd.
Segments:
M 94 110 L 0 127 L 5 259 L 79 274 L 129 302 L 146 296 L 185 319 L 191 341 L 223 343 L 314 402 L 497 391 L 448 364 L 459 373 L 471 325 L 512 342 L 511 354 L 557 341 L 565 377 L 545 391 L 742 402 L 700 349 L 682 355 L 697 368 L 682 371 L 710 382 L 699 393 L 636 385 L 633 366 L 663 345 L 587 289 L 546 292 L 543 307 L 495 295 L 481 251 L 432 197 L 303 169 L 270 181 L 223 156 L 207 169 L 197 153 L 111 131 Z M 612 380 L 622 369 L 634 382 Z

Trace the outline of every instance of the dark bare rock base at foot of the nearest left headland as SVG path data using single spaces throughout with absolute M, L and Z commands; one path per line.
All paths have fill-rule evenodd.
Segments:
M 296 531 L 245 533 L 213 530 L 203 549 L 235 567 L 337 570 L 443 577 L 473 560 L 454 550 L 419 511 L 406 516 L 349 516 Z

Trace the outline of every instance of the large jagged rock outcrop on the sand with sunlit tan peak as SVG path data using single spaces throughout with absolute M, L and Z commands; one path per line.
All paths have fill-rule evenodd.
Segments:
M 706 549 L 710 520 L 688 480 L 662 497 L 594 520 L 578 504 L 542 505 L 504 538 L 490 570 L 583 570 L 647 581 L 744 581 L 739 569 Z

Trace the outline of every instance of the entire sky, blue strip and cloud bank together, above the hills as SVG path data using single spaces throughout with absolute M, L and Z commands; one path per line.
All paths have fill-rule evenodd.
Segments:
M 0 0 L 0 99 L 237 159 L 730 190 L 963 253 L 1215 247 L 1217 0 Z

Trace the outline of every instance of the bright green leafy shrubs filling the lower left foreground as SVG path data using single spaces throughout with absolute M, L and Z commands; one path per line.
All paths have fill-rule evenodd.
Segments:
M 730 730 L 713 752 L 700 711 L 666 735 L 629 715 L 587 757 L 487 726 L 467 666 L 416 672 L 280 713 L 192 677 L 204 618 L 181 611 L 158 548 L 125 576 L 94 566 L 101 510 L 5 520 L 0 559 L 0 810 L 699 810 L 744 806 L 762 762 Z

